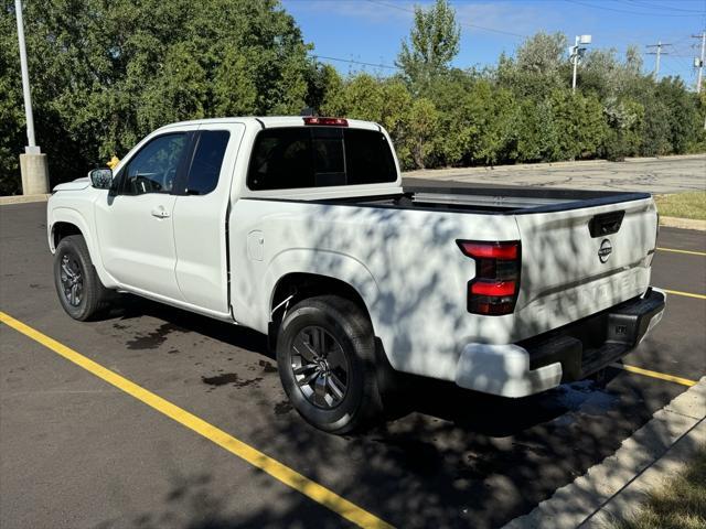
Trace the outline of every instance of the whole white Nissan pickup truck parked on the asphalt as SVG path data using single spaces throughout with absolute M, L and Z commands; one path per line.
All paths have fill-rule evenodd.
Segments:
M 649 194 L 404 188 L 365 121 L 169 125 L 56 186 L 47 217 L 72 317 L 115 290 L 266 333 L 329 432 L 379 417 L 391 367 L 528 396 L 616 361 L 665 306 Z

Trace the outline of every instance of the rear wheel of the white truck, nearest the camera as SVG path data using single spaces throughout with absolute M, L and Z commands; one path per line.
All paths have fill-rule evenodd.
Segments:
M 277 365 L 291 404 L 320 430 L 349 433 L 382 414 L 373 326 L 349 300 L 322 295 L 295 305 L 279 328 Z

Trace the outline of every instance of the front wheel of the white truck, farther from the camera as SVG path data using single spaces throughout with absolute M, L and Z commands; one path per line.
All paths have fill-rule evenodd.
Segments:
M 93 320 L 108 306 L 111 291 L 100 282 L 81 235 L 64 237 L 56 247 L 54 285 L 64 311 L 74 320 Z

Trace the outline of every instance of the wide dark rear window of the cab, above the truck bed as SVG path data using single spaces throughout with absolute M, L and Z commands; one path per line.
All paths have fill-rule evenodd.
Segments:
M 257 134 L 247 175 L 253 191 L 395 182 L 387 138 L 341 127 L 266 129 Z

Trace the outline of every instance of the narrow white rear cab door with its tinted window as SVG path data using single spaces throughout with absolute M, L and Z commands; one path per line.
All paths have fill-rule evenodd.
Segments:
M 231 184 L 244 125 L 202 125 L 174 204 L 175 277 L 188 303 L 227 314 Z

